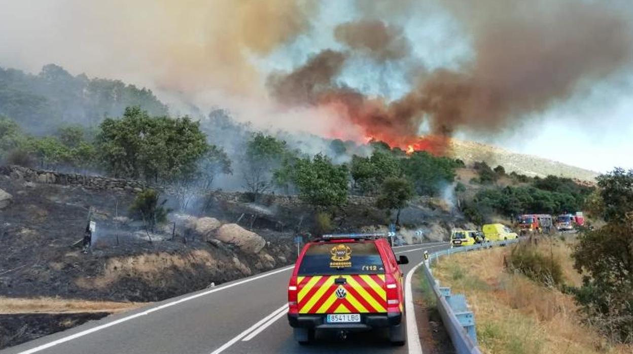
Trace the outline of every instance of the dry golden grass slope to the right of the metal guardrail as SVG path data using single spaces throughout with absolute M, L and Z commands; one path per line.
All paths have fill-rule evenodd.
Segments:
M 550 243 L 539 249 L 550 254 Z M 572 267 L 570 244 L 555 240 L 551 253 L 563 265 L 569 285 L 580 282 Z M 572 296 L 546 288 L 503 267 L 510 248 L 444 257 L 434 269 L 451 292 L 466 294 L 475 313 L 477 338 L 484 353 L 633 353 L 633 346 L 610 346 L 585 326 Z

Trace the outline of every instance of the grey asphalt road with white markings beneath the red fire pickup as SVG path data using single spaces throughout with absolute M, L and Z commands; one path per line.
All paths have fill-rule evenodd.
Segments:
M 410 263 L 402 266 L 408 274 L 422 262 L 424 250 L 430 253 L 444 248 L 448 248 L 448 243 L 401 246 L 394 248 L 394 252 L 408 256 Z M 284 267 L 228 282 L 87 322 L 0 353 L 410 352 L 411 338 L 408 345 L 395 347 L 387 342 L 386 332 L 350 334 L 345 341 L 322 333 L 317 334 L 316 343 L 299 346 L 285 316 L 291 272 L 292 267 Z M 415 343 L 411 345 L 414 348 Z

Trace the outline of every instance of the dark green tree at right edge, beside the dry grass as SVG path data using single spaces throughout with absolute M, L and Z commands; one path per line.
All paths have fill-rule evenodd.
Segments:
M 616 168 L 598 177 L 607 224 L 579 234 L 572 254 L 585 274 L 576 299 L 615 341 L 633 341 L 633 170 Z M 596 215 L 597 216 L 597 215 Z

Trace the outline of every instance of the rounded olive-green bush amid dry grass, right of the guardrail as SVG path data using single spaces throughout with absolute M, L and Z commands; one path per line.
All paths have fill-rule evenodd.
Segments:
M 560 261 L 542 255 L 535 247 L 526 244 L 520 244 L 512 249 L 506 259 L 506 268 L 546 286 L 559 286 L 563 282 Z

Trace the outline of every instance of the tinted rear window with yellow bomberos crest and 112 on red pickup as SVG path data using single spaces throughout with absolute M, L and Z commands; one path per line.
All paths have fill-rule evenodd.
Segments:
M 373 243 L 312 244 L 299 265 L 299 275 L 384 274 Z

